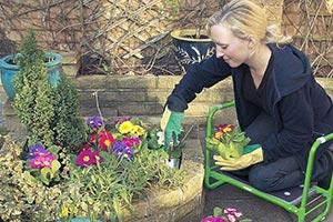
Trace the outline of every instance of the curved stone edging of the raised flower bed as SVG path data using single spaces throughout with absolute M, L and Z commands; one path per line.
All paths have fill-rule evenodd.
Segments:
M 133 204 L 134 213 L 125 212 L 124 221 L 198 220 L 203 211 L 203 153 L 198 139 L 186 140 L 181 169 L 186 172 L 184 184 L 173 190 L 152 188 L 144 200 Z

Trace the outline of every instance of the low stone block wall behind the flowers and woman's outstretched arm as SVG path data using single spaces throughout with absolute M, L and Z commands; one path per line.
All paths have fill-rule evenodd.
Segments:
M 85 117 L 98 114 L 97 92 L 103 117 L 144 115 L 157 122 L 161 118 L 168 95 L 180 79 L 181 77 L 174 75 L 89 75 L 75 78 L 74 82 L 80 92 L 81 113 Z M 332 79 L 317 78 L 317 81 L 333 95 Z M 195 120 L 202 124 L 210 107 L 230 100 L 233 100 L 233 88 L 231 78 L 228 78 L 198 94 L 185 111 L 185 120 Z M 232 110 L 226 115 L 231 117 L 231 112 Z

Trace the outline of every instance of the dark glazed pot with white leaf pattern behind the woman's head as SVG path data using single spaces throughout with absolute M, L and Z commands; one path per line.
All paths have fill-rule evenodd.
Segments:
M 201 62 L 215 53 L 215 47 L 205 32 L 201 31 L 195 37 L 194 29 L 174 30 L 171 32 L 175 47 L 175 57 L 183 72 L 198 62 Z

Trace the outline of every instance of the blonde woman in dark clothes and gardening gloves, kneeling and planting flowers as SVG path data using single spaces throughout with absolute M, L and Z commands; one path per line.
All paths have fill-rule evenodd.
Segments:
M 215 164 L 246 173 L 263 191 L 302 184 L 311 144 L 333 132 L 332 101 L 307 58 L 268 26 L 265 10 L 250 0 L 225 4 L 206 28 L 216 53 L 193 65 L 168 98 L 161 120 L 165 147 L 176 141 L 183 111 L 195 94 L 231 75 L 239 124 L 254 145 L 238 160 L 215 155 Z M 329 145 L 320 149 L 313 172 L 313 180 L 326 183 L 333 165 Z

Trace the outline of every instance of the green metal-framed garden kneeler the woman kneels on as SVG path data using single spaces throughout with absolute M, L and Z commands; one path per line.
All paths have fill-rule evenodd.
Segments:
M 225 102 L 223 104 L 219 104 L 210 109 L 208 120 L 206 120 L 206 135 L 205 135 L 206 138 L 212 138 L 213 135 L 214 114 L 220 110 L 223 110 L 225 108 L 231 108 L 231 107 L 234 107 L 233 101 Z M 333 133 L 317 138 L 315 142 L 312 144 L 307 165 L 306 165 L 305 181 L 303 185 L 291 188 L 289 190 L 284 190 L 280 192 L 272 192 L 272 193 L 266 193 L 251 186 L 246 181 L 246 179 L 244 178 L 231 174 L 225 171 L 221 171 L 219 167 L 211 163 L 211 151 L 205 149 L 204 185 L 205 188 L 212 190 L 224 183 L 229 183 L 241 190 L 248 191 L 261 199 L 264 199 L 273 204 L 276 204 L 291 213 L 296 214 L 297 222 L 304 222 L 305 216 L 307 214 L 310 214 L 311 212 L 313 212 L 314 210 L 323 205 L 322 206 L 323 211 L 321 211 L 319 215 L 316 215 L 312 220 L 312 221 L 323 221 L 331 210 L 332 196 L 333 196 L 333 176 L 331 176 L 330 186 L 326 190 L 315 185 L 315 183 L 312 183 L 311 174 L 312 174 L 314 155 L 317 148 L 330 140 L 333 140 Z M 289 194 L 292 193 L 292 195 L 285 195 L 286 191 L 289 192 Z M 314 199 L 311 200 L 311 198 L 313 196 Z

